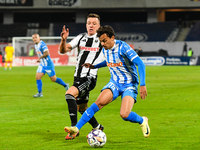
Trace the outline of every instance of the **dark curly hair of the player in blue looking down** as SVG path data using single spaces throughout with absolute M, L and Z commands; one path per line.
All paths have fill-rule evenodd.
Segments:
M 109 38 L 111 38 L 112 36 L 115 36 L 115 31 L 113 30 L 113 28 L 109 25 L 105 25 L 105 26 L 101 26 L 98 30 L 97 30 L 97 37 L 100 37 L 102 34 L 106 34 Z

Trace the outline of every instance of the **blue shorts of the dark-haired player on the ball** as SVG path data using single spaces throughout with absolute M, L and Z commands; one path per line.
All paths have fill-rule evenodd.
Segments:
M 138 83 L 129 83 L 129 84 L 122 84 L 116 83 L 112 79 L 108 82 L 106 86 L 103 87 L 103 90 L 110 89 L 113 93 L 113 100 L 115 100 L 118 96 L 121 95 L 123 99 L 125 96 L 131 96 L 137 102 L 137 94 L 138 94 Z

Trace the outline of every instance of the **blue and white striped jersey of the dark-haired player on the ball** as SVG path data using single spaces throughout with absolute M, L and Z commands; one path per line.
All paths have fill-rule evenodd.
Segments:
M 103 54 L 112 80 L 122 84 L 139 83 L 137 68 L 132 62 L 138 55 L 127 43 L 115 40 L 111 49 L 103 48 Z

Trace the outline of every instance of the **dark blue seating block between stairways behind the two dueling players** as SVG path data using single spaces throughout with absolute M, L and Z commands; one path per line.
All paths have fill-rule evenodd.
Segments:
M 64 24 L 55 23 L 53 27 L 54 36 L 59 36 Z M 70 35 L 76 36 L 85 32 L 83 23 L 66 23 L 70 29 Z M 139 33 L 145 34 L 148 38 L 146 41 L 166 41 L 171 32 L 176 28 L 176 22 L 159 22 L 159 23 L 102 23 L 102 25 L 111 25 L 116 34 L 119 33 Z

